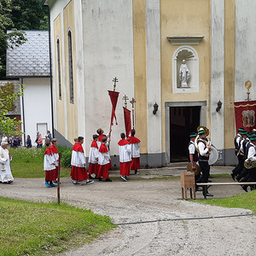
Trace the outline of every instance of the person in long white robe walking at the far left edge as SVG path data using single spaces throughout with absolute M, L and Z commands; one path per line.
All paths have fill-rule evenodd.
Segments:
M 7 144 L 2 142 L 0 147 L 0 183 L 13 183 L 14 181 L 10 168 L 12 157 L 7 149 Z

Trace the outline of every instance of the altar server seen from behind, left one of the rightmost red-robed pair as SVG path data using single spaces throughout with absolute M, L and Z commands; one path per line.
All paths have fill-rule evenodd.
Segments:
M 121 133 L 121 140 L 119 141 L 119 162 L 120 175 L 126 182 L 127 176 L 130 175 L 131 170 L 131 144 L 125 140 L 125 133 Z

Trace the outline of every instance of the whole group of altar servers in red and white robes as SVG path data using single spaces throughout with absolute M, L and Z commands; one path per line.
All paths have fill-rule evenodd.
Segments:
M 93 135 L 90 145 L 88 172 L 86 170 L 86 159 L 82 147 L 84 137 L 74 138 L 70 174 L 74 185 L 81 185 L 82 183 L 90 184 L 94 182 L 93 179 L 112 182 L 109 178 L 109 168 L 112 167 L 109 155 L 110 137 L 109 134 L 104 134 L 102 128 L 99 128 L 96 132 L 97 134 Z M 54 183 L 58 170 L 56 143 L 56 139 L 52 139 L 51 142 L 47 141 L 47 148 L 44 153 L 45 185 L 47 187 L 55 187 Z M 135 137 L 135 130 L 132 130 L 131 137 L 127 138 L 125 138 L 125 133 L 121 133 L 118 145 L 120 177 L 127 182 L 131 170 L 137 174 L 137 170 L 140 168 L 140 140 Z

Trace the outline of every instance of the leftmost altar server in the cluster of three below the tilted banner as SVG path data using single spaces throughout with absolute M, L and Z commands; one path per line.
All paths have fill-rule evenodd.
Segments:
M 99 158 L 99 148 L 97 145 L 98 136 L 95 134 L 93 137 L 93 141 L 90 145 L 90 154 L 89 154 L 89 177 L 92 178 L 90 175 L 95 174 L 95 178 L 98 175 L 98 158 Z

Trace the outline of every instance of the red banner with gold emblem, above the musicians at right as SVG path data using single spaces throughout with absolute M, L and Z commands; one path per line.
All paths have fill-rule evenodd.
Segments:
M 234 102 L 234 107 L 236 116 L 236 131 L 238 128 L 244 128 L 246 131 L 256 129 L 256 101 Z

